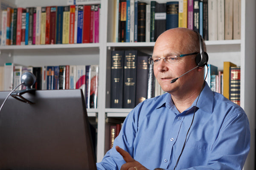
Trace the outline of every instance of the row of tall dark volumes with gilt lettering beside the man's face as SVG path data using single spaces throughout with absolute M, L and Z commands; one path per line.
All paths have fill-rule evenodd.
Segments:
M 134 108 L 154 96 L 149 57 L 138 50 L 111 51 L 111 108 Z

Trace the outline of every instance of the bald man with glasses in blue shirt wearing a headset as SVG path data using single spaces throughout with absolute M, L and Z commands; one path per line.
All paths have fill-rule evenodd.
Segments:
M 204 66 L 195 62 L 200 41 L 186 28 L 170 29 L 157 38 L 154 75 L 167 93 L 145 100 L 128 114 L 114 147 L 97 163 L 99 170 L 243 168 L 250 149 L 247 116 L 205 83 Z

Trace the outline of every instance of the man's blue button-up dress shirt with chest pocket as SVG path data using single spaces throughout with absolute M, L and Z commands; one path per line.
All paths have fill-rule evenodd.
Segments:
M 168 93 L 137 105 L 126 117 L 113 148 L 97 163 L 98 170 L 117 170 L 125 164 L 116 145 L 149 170 L 173 170 L 196 100 L 182 113 Z M 244 110 L 206 84 L 176 170 L 241 170 L 249 150 L 250 128 Z

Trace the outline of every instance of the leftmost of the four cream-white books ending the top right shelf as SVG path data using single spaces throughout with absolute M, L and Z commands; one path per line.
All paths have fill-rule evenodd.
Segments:
M 208 34 L 209 40 L 218 40 L 218 20 L 217 20 L 216 0 L 208 0 Z

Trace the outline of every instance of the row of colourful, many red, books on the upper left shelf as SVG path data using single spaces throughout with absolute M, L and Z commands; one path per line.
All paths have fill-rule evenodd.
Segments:
M 2 11 L 1 45 L 99 42 L 100 5 L 10 8 Z

